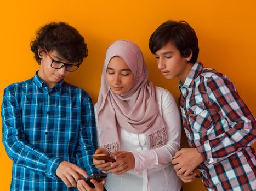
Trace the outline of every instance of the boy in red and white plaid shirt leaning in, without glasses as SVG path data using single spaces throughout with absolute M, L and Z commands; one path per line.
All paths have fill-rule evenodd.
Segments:
M 208 190 L 256 190 L 256 120 L 233 83 L 197 61 L 196 33 L 185 21 L 162 23 L 149 47 L 166 79 L 180 80 L 180 109 L 191 148 L 182 148 L 172 163 L 183 182 L 196 177 Z

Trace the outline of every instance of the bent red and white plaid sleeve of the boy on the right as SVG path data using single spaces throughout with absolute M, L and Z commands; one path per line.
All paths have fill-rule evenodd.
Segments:
M 256 122 L 232 82 L 213 75 L 204 85 L 212 107 L 220 108 L 229 126 L 223 134 L 197 147 L 206 164 L 213 164 L 241 151 L 242 147 L 252 145 L 256 139 Z

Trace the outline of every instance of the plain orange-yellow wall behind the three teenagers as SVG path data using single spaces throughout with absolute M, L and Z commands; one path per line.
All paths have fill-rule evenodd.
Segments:
M 138 44 L 145 55 L 150 80 L 169 89 L 178 100 L 178 80 L 164 79 L 148 48 L 149 37 L 158 25 L 174 19 L 190 23 L 198 35 L 200 61 L 226 74 L 253 114 L 256 113 L 254 0 L 24 0 L 1 1 L 0 6 L 1 98 L 4 87 L 29 79 L 38 70 L 29 47 L 36 29 L 51 21 L 65 21 L 78 29 L 89 48 L 89 56 L 82 67 L 66 81 L 86 89 L 94 103 L 100 88 L 105 51 L 117 39 Z M 184 134 L 181 145 L 187 147 Z M 12 162 L 3 144 L 0 144 L 0 160 L 0 190 L 9 190 Z M 196 180 L 184 184 L 184 190 L 205 189 L 201 181 Z

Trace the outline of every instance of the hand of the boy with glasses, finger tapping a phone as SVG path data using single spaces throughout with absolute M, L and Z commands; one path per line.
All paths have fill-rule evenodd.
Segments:
M 86 171 L 67 161 L 60 163 L 56 170 L 56 175 L 66 184 L 67 187 L 76 187 L 76 183 L 82 178 L 81 176 L 85 178 L 88 177 Z

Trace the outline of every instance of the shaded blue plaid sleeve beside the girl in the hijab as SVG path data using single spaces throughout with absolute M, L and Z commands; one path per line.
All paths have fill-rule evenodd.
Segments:
M 87 174 L 99 173 L 93 164 L 92 154 L 97 147 L 96 125 L 92 100 L 82 96 L 82 116 L 79 132 L 76 161 Z

